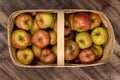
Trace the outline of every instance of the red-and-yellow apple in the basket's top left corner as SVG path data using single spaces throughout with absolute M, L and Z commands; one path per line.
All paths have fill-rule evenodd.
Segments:
M 30 30 L 33 25 L 32 16 L 28 13 L 22 13 L 16 17 L 15 24 L 19 29 Z

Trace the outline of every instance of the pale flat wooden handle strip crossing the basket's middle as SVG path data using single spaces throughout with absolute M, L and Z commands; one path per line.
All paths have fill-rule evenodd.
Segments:
M 57 65 L 64 66 L 64 11 L 57 16 Z

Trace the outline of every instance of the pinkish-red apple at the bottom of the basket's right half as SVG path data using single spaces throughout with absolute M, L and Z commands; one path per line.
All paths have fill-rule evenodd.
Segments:
M 89 64 L 94 62 L 95 54 L 91 49 L 84 49 L 80 52 L 79 58 L 81 63 Z

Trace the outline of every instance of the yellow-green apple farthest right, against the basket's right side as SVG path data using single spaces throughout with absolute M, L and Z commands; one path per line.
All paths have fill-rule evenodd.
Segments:
M 102 45 L 102 44 L 106 43 L 106 41 L 108 39 L 108 33 L 107 33 L 106 28 L 96 27 L 91 32 L 91 37 L 92 37 L 94 44 Z

